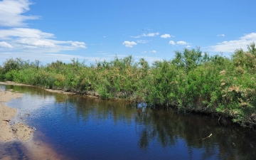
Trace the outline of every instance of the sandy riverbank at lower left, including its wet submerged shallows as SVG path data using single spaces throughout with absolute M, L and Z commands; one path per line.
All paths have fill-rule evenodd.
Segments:
M 31 127 L 21 122 L 11 122 L 17 110 L 6 106 L 5 102 L 22 96 L 22 93 L 0 90 L 0 159 L 68 159 L 58 155 L 50 144 L 33 139 Z M 15 147 L 12 146 L 14 143 Z

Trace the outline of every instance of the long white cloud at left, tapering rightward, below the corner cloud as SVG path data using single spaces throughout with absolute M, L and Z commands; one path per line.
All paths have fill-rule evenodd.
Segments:
M 44 33 L 34 28 L 10 28 L 0 30 L 0 40 L 12 46 L 14 50 L 33 50 L 34 53 L 58 53 L 61 50 L 87 48 L 84 42 L 53 40 L 52 33 Z M 41 48 L 50 48 L 41 50 Z

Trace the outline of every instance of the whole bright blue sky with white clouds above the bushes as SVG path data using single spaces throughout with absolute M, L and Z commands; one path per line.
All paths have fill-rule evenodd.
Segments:
M 0 65 L 6 58 L 94 63 L 115 55 L 153 62 L 196 46 L 229 56 L 256 42 L 255 6 L 255 0 L 0 0 Z

